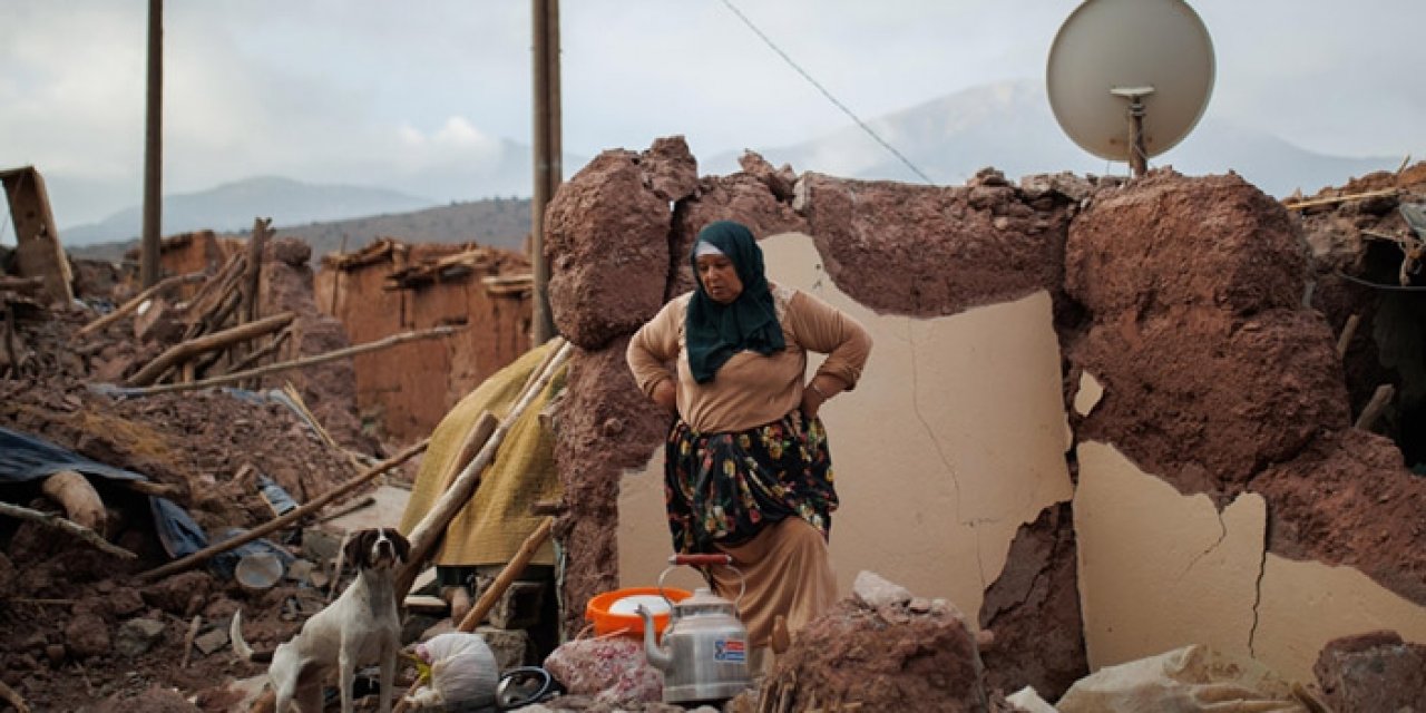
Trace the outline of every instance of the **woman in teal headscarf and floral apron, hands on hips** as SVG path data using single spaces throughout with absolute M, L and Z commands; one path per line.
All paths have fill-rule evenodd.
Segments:
M 743 623 L 763 647 L 779 615 L 796 632 L 837 596 L 837 493 L 817 411 L 856 386 L 871 338 L 816 297 L 770 284 L 742 224 L 704 227 L 689 260 L 696 289 L 635 334 L 627 359 L 639 388 L 677 415 L 665 449 L 673 548 L 733 556 L 747 580 Z M 829 356 L 804 385 L 809 349 Z M 737 596 L 727 568 L 707 576 Z

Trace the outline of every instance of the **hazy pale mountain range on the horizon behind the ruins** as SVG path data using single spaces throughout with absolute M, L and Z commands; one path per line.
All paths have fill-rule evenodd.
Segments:
M 1308 151 L 1271 133 L 1214 118 L 1211 106 L 1208 117 L 1179 145 L 1151 160 L 1151 165 L 1172 165 L 1188 175 L 1232 170 L 1265 193 L 1282 198 L 1298 190 L 1313 194 L 1322 187 L 1342 185 L 1348 178 L 1392 170 L 1399 163 L 1399 157 L 1360 158 Z M 896 147 L 906 161 L 856 124 L 793 145 L 750 148 L 774 165 L 791 164 L 796 171 L 906 183 L 925 183 L 921 178 L 925 175 L 931 183 L 943 185 L 961 184 L 983 167 L 995 167 L 1011 180 L 1058 171 L 1128 173 L 1124 164 L 1095 158 L 1071 143 L 1054 118 L 1044 86 L 1031 80 L 968 88 L 870 120 L 866 125 Z M 699 173 L 737 171 L 740 153 L 726 151 L 707 157 L 699 161 Z M 348 221 L 327 232 L 347 235 L 351 250 L 356 250 L 375 235 L 368 235 L 365 228 L 358 230 L 351 221 L 419 212 L 419 220 L 405 224 L 405 230 L 418 231 L 419 238 L 395 231 L 384 234 L 408 240 L 442 240 L 441 230 L 449 230 L 451 234 L 443 241 L 492 240 L 495 244 L 512 244 L 523 240 L 528 218 L 522 222 L 520 217 L 511 212 L 505 217 L 508 222 L 498 221 L 499 227 L 495 227 L 489 222 L 489 211 L 471 210 L 471 205 L 486 201 L 452 202 L 428 195 L 458 194 L 458 187 L 471 187 L 471 193 L 482 191 L 479 194 L 483 195 L 522 194 L 525 191 L 518 187 L 530 184 L 530 165 L 529 147 L 506 140 L 499 157 L 492 161 L 465 165 L 452 160 L 419 175 L 374 170 L 368 177 L 372 185 L 308 184 L 279 177 L 250 178 L 202 193 L 165 197 L 163 231 L 165 235 L 200 228 L 238 232 L 248 230 L 258 215 L 272 217 L 274 225 L 284 231 L 289 227 Z M 565 157 L 566 175 L 582 165 L 582 158 Z M 381 184 L 398 184 L 401 190 L 378 187 Z M 441 217 L 442 211 L 451 214 Z M 523 211 L 528 215 L 528 205 Z M 469 222 L 471 220 L 483 222 Z M 382 225 L 382 230 L 401 228 L 399 221 L 368 222 L 371 230 L 376 230 L 375 225 Z M 322 231 L 315 227 L 311 230 Z M 519 232 L 506 234 L 508 231 Z M 140 232 L 140 210 L 131 207 L 100 222 L 66 227 L 60 232 L 67 245 L 133 240 Z

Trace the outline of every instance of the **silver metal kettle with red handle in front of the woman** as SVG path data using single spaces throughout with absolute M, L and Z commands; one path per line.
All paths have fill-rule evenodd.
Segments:
M 727 555 L 674 555 L 669 558 L 669 563 L 672 566 L 659 575 L 660 595 L 663 578 L 680 565 L 722 565 L 737 572 L 733 558 Z M 737 602 L 746 590 L 744 582 L 733 602 L 710 589 L 699 589 L 677 603 L 669 602 L 665 595 L 670 615 L 662 646 L 653 630 L 653 615 L 639 606 L 639 616 L 643 617 L 643 652 L 649 663 L 663 672 L 665 703 L 724 700 L 753 686 L 747 669 L 752 653 L 747 627 L 737 617 Z

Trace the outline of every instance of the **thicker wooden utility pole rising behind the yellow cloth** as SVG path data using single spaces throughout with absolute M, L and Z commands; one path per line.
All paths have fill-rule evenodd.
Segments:
M 530 198 L 530 265 L 535 305 L 530 347 L 555 337 L 549 312 L 549 262 L 545 260 L 545 207 L 563 180 L 559 120 L 559 0 L 530 0 L 533 27 L 535 195 Z

